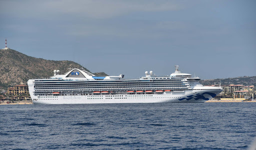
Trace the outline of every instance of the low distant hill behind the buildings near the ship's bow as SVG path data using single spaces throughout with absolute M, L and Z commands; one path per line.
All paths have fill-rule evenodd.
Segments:
M 226 79 L 210 79 L 210 80 L 201 80 L 200 83 L 202 85 L 214 85 L 219 84 L 219 80 L 221 85 L 223 84 L 241 84 L 244 86 L 254 85 L 256 87 L 256 76 L 248 77 L 236 77 L 236 78 L 226 78 Z

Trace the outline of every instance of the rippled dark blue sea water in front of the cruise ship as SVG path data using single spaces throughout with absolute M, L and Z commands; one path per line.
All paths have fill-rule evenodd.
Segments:
M 0 105 L 0 150 L 247 150 L 256 103 Z

